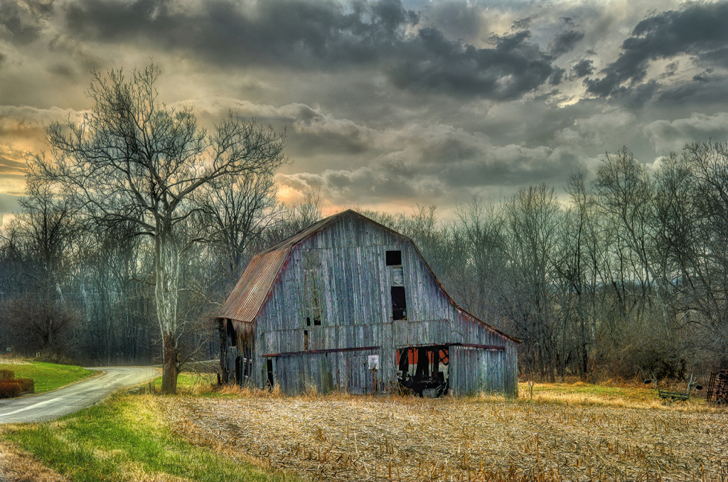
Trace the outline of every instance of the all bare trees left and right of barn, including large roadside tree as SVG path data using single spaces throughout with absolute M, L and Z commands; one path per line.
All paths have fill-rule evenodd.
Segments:
M 94 107 L 28 155 L 0 234 L 0 349 L 81 363 L 218 355 L 215 312 L 250 258 L 322 218 L 277 200 L 284 133 L 228 113 L 214 129 L 157 99 L 155 66 L 94 72 Z M 651 170 L 624 148 L 566 192 L 540 184 L 366 216 L 411 237 L 446 291 L 521 339 L 519 370 L 684 376 L 728 366 L 728 153 L 688 143 Z

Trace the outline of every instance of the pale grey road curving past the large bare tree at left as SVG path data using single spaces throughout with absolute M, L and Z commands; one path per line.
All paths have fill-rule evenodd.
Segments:
M 92 406 L 120 388 L 159 376 L 151 367 L 100 367 L 106 374 L 53 392 L 27 398 L 0 400 L 0 424 L 43 422 Z

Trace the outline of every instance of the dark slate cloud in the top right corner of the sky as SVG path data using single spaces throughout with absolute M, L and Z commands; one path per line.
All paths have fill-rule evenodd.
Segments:
M 724 66 L 728 62 L 728 1 L 689 4 L 637 24 L 622 43 L 622 54 L 604 68 L 601 79 L 585 79 L 587 92 L 599 97 L 622 95 L 623 84 L 645 79 L 650 60 L 687 54 L 705 63 Z

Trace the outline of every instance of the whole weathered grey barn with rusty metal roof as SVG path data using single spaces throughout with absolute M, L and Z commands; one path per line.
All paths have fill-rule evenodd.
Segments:
M 518 395 L 520 341 L 458 307 L 412 240 L 353 210 L 258 253 L 218 327 L 228 384 Z

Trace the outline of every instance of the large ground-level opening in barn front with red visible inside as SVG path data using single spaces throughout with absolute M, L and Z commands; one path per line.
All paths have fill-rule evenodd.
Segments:
M 419 396 L 447 395 L 449 349 L 447 346 L 408 347 L 397 350 L 397 381 Z

